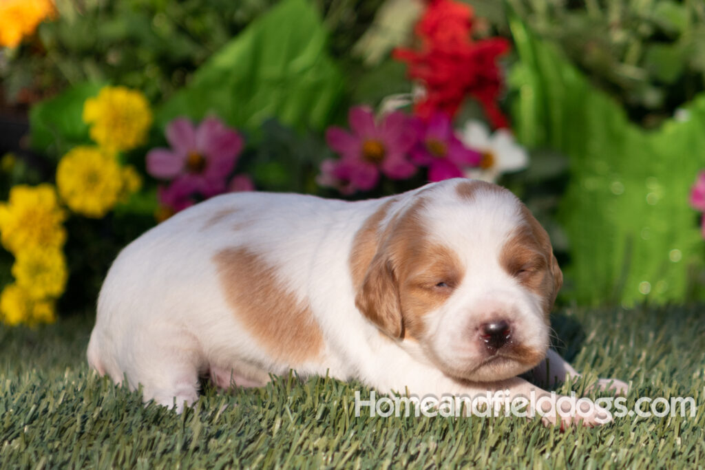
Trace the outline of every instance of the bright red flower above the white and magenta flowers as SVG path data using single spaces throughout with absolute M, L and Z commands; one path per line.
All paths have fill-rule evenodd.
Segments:
M 397 49 L 394 57 L 407 63 L 409 76 L 424 84 L 426 97 L 415 106 L 422 118 L 438 111 L 455 116 L 470 96 L 482 104 L 494 127 L 507 127 L 497 105 L 502 79 L 496 61 L 509 43 L 503 38 L 473 42 L 471 20 L 469 6 L 433 0 L 416 27 L 420 49 Z

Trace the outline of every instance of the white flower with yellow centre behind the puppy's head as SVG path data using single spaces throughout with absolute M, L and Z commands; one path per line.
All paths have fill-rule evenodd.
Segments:
M 478 120 L 465 123 L 460 140 L 465 147 L 479 151 L 482 163 L 479 168 L 468 168 L 467 178 L 496 182 L 502 173 L 520 171 L 529 165 L 529 155 L 524 147 L 514 140 L 506 129 L 498 129 L 490 135 L 487 126 Z

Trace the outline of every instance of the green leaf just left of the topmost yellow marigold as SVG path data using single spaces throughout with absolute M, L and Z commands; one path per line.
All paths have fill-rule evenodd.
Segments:
M 104 84 L 84 83 L 58 97 L 41 101 L 30 110 L 32 148 L 58 159 L 77 144 L 90 142 L 88 126 L 82 120 L 83 103 L 94 97 Z

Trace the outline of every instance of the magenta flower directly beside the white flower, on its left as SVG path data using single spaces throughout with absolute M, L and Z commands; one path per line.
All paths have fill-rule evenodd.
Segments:
M 428 123 L 415 121 L 419 140 L 412 148 L 411 159 L 429 167 L 429 180 L 441 181 L 463 176 L 467 167 L 478 166 L 482 154 L 465 147 L 455 135 L 446 113 L 434 113 Z

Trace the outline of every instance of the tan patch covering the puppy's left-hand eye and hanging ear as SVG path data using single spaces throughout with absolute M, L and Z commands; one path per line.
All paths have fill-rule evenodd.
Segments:
M 424 316 L 450 297 L 462 266 L 453 252 L 429 241 L 420 220 L 422 197 L 382 228 L 389 204 L 355 237 L 350 257 L 355 305 L 391 338 L 419 340 Z

